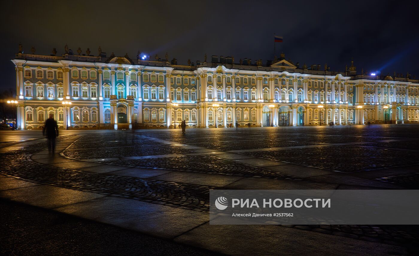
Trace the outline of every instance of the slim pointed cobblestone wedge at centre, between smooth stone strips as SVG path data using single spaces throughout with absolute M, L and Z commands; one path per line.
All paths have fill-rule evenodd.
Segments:
M 221 159 L 217 156 L 176 156 L 153 159 L 103 161 L 106 163 L 136 166 L 151 169 L 166 169 L 207 174 L 227 174 L 243 177 L 265 177 L 274 179 L 298 179 L 291 175 Z

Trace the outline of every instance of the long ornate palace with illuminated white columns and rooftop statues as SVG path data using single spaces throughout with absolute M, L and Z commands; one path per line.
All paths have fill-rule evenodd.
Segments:
M 16 65 L 18 129 L 42 128 L 50 113 L 60 128 L 171 128 L 239 125 L 336 125 L 419 122 L 419 80 L 357 74 L 352 65 L 300 67 L 281 54 L 274 61 L 212 56 L 178 65 L 98 55 L 24 54 Z M 322 69 L 322 70 L 321 70 Z M 71 105 L 70 105 L 71 102 Z

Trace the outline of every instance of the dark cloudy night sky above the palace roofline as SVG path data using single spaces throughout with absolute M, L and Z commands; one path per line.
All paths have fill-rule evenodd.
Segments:
M 7 1 L 2 2 L 1 89 L 16 86 L 10 59 L 18 51 L 57 55 L 68 44 L 97 55 L 137 51 L 178 64 L 212 55 L 252 61 L 273 57 L 273 34 L 294 63 L 327 63 L 332 71 L 350 66 L 419 77 L 419 33 L 414 1 Z

